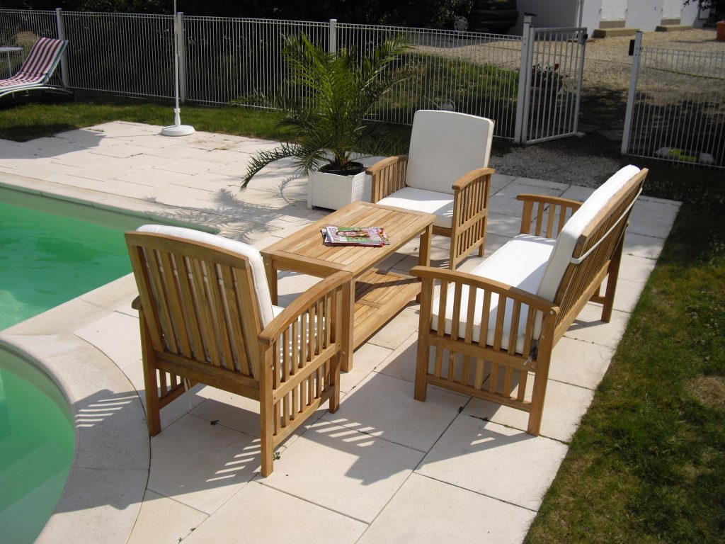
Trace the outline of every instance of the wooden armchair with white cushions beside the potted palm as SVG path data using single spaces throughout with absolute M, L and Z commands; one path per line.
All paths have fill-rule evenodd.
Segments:
M 410 152 L 368 168 L 372 201 L 434 213 L 434 234 L 449 236 L 450 268 L 471 251 L 484 255 L 494 123 L 457 112 L 419 110 Z

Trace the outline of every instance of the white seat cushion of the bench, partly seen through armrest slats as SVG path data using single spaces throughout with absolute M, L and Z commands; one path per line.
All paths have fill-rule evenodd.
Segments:
M 500 281 L 505 284 L 518 287 L 526 292 L 534 294 L 539 288 L 547 261 L 554 249 L 555 240 L 519 234 L 510 242 L 507 242 L 500 250 L 494 252 L 491 257 L 478 265 L 471 271 L 475 276 Z M 445 332 L 451 333 L 453 316 L 453 286 L 448 289 L 448 300 L 446 308 Z M 468 316 L 468 286 L 463 286 L 461 293 L 461 308 L 459 319 L 460 337 L 465 337 L 465 321 Z M 481 334 L 481 309 L 483 307 L 484 294 L 480 289 L 476 293 L 476 306 L 473 311 L 473 342 L 478 342 Z M 497 294 L 491 296 L 491 311 L 489 313 L 489 331 L 486 335 L 486 342 L 493 345 L 494 329 L 496 327 L 495 316 L 497 313 L 499 297 Z M 436 329 L 439 315 L 439 298 L 433 302 L 433 327 Z M 508 301 L 505 308 L 505 321 L 503 325 L 502 347 L 507 348 L 509 342 L 509 331 L 511 329 L 511 313 L 513 302 Z M 516 339 L 516 352 L 522 353 L 524 326 L 528 316 L 528 308 L 521 308 L 521 316 L 518 325 L 518 338 Z M 536 331 L 535 331 L 536 332 Z

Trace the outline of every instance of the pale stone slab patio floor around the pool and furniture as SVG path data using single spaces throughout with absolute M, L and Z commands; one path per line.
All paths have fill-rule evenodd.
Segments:
M 239 192 L 250 155 L 273 142 L 159 129 L 115 122 L 0 141 L 0 186 L 218 228 L 259 248 L 326 215 L 307 209 L 305 179 L 289 164 Z M 486 255 L 518 234 L 517 194 L 592 192 L 502 174 L 492 185 Z M 194 387 L 162 410 L 163 431 L 149 440 L 133 276 L 2 331 L 0 342 L 54 376 L 77 426 L 67 488 L 38 542 L 520 543 L 678 210 L 639 199 L 613 318 L 597 321 L 590 304 L 555 348 L 539 437 L 510 408 L 435 388 L 413 400 L 415 302 L 355 351 L 339 411 L 318 411 L 284 442 L 266 479 L 258 408 L 244 398 Z M 446 265 L 447 244 L 434 237 L 433 265 Z M 386 268 L 407 272 L 416 251 L 408 244 Z M 282 300 L 314 281 L 281 274 Z

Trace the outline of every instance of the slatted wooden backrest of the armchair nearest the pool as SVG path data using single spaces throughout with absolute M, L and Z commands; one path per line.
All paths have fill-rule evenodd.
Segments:
M 249 259 L 174 236 L 126 234 L 157 357 L 181 357 L 259 379 L 262 330 Z

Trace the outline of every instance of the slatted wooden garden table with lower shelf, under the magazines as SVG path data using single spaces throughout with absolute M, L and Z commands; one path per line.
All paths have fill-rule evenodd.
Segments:
M 277 303 L 278 271 L 294 271 L 320 278 L 337 271 L 352 273 L 353 280 L 343 300 L 346 318 L 342 330 L 344 345 L 341 360 L 341 369 L 351 370 L 352 350 L 421 292 L 418 279 L 391 271 L 378 271 L 374 267 L 416 236 L 421 236 L 418 263 L 427 266 L 431 259 L 435 217 L 430 213 L 392 206 L 353 202 L 270 245 L 261 253 L 273 304 Z M 320 228 L 328 225 L 381 226 L 390 244 L 383 247 L 326 246 Z

